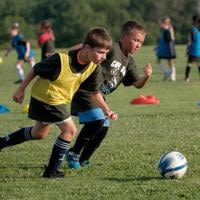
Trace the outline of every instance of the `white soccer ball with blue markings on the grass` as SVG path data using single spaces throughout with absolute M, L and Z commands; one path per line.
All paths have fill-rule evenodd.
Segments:
M 180 179 L 187 171 L 185 156 L 177 151 L 163 154 L 158 163 L 158 170 L 164 178 Z

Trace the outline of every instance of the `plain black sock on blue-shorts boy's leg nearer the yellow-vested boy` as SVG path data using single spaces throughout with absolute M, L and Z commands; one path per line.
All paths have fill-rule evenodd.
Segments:
M 81 150 L 88 143 L 88 141 L 93 138 L 97 132 L 102 129 L 104 120 L 96 120 L 93 122 L 85 123 L 84 127 L 81 129 L 74 146 L 70 149 L 76 154 L 80 154 Z

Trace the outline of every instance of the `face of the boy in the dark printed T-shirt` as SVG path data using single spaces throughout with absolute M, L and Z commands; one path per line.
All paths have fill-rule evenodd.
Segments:
M 144 43 L 146 34 L 139 31 L 133 30 L 129 35 L 122 35 L 120 38 L 121 48 L 125 55 L 136 53 Z

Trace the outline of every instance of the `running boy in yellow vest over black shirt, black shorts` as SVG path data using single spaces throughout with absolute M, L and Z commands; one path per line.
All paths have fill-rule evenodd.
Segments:
M 94 99 L 100 97 L 96 94 L 99 90 L 100 72 L 97 64 L 106 58 L 111 45 L 112 40 L 105 29 L 93 28 L 87 33 L 81 49 L 56 53 L 37 63 L 13 96 L 14 101 L 21 104 L 26 87 L 35 76 L 39 76 L 32 87 L 28 113 L 31 119 L 36 120 L 35 126 L 21 128 L 0 138 L 0 149 L 29 140 L 43 139 L 48 135 L 51 125 L 56 124 L 61 133 L 54 144 L 43 177 L 64 177 L 59 168 L 76 134 L 75 124 L 66 105 L 71 102 L 74 93 L 84 81 L 88 94 L 94 96 Z M 99 105 L 108 117 L 117 118 L 101 97 Z

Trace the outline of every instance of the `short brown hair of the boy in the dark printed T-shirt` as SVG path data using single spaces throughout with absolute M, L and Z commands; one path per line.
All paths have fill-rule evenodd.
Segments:
M 124 23 L 121 28 L 121 35 L 130 35 L 132 34 L 133 30 L 138 30 L 146 35 L 144 27 L 136 21 L 127 21 L 126 23 Z

